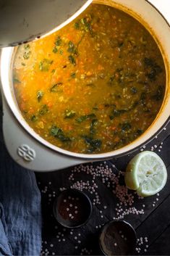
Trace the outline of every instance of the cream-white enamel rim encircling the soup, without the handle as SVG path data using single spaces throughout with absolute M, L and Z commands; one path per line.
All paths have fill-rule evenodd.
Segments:
M 96 2 L 101 2 L 103 0 L 99 0 Z M 143 23 L 148 24 L 148 27 L 150 27 L 150 31 L 153 33 L 153 35 L 156 35 L 156 41 L 159 43 L 161 42 L 161 53 L 163 54 L 163 59 L 166 66 L 166 97 L 164 99 L 164 104 L 161 107 L 161 115 L 158 115 L 156 117 L 156 120 L 153 122 L 153 125 L 148 128 L 145 133 L 143 133 L 142 136 L 140 136 L 135 141 L 132 141 L 132 143 L 128 144 L 127 146 L 122 147 L 121 149 L 114 150 L 112 152 L 102 153 L 102 154 L 79 154 L 75 152 L 69 152 L 65 149 L 61 149 L 57 146 L 54 146 L 53 144 L 50 144 L 45 139 L 41 138 L 35 131 L 33 131 L 33 128 L 30 128 L 29 125 L 25 122 L 24 118 L 21 115 L 21 112 L 19 108 L 17 107 L 17 102 L 14 99 L 14 92 L 12 89 L 12 57 L 14 54 L 14 48 L 4 48 L 1 51 L 1 83 L 2 83 L 2 89 L 4 92 L 4 96 L 7 100 L 7 103 L 9 104 L 10 109 L 12 110 L 14 116 L 17 118 L 19 123 L 22 125 L 23 128 L 25 128 L 25 131 L 30 133 L 31 136 L 33 136 L 34 139 L 41 142 L 41 144 L 47 146 L 49 149 L 53 149 L 56 152 L 59 152 L 61 154 L 67 155 L 69 157 L 78 157 L 82 159 L 89 159 L 89 160 L 100 160 L 100 159 L 109 159 L 114 156 L 118 156 L 124 153 L 128 153 L 132 150 L 135 150 L 137 147 L 141 146 L 142 144 L 145 144 L 146 141 L 150 140 L 153 136 L 158 133 L 158 131 L 161 130 L 164 123 L 169 118 L 169 110 L 170 110 L 170 99 L 169 99 L 169 92 L 167 92 L 167 88 L 170 87 L 170 81 L 169 81 L 169 73 L 170 73 L 170 44 L 169 44 L 169 38 L 170 38 L 170 28 L 168 22 L 163 18 L 163 16 L 150 4 L 148 1 L 145 0 L 117 0 L 117 1 L 111 1 L 106 0 L 105 4 L 109 4 L 109 2 L 112 2 L 115 7 L 120 7 L 121 9 L 127 9 L 127 12 L 129 12 L 131 15 L 137 17 L 143 17 Z M 145 12 L 145 9 L 148 10 L 148 12 Z M 77 15 L 76 15 L 77 16 Z M 69 21 L 73 20 L 75 18 L 75 15 L 69 19 Z M 140 18 L 141 19 L 141 18 Z M 62 27 L 63 25 L 61 25 Z M 49 32 L 51 33 L 51 32 Z M 48 34 L 49 34 L 48 33 Z M 167 84 L 168 83 L 168 84 Z

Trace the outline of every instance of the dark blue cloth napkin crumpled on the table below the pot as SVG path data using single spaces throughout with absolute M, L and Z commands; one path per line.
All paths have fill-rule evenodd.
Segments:
M 35 174 L 9 158 L 3 166 L 0 161 L 0 255 L 40 254 L 41 194 Z

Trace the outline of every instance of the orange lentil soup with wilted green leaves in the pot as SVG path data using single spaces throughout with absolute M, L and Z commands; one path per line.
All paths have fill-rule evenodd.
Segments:
M 61 30 L 17 49 L 13 83 L 23 117 L 43 139 L 98 154 L 129 144 L 153 123 L 166 73 L 140 22 L 91 4 Z

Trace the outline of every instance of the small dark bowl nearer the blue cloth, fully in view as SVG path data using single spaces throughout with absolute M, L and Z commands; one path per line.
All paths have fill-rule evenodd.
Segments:
M 66 228 L 79 228 L 90 219 L 92 203 L 84 192 L 66 189 L 54 202 L 54 216 Z

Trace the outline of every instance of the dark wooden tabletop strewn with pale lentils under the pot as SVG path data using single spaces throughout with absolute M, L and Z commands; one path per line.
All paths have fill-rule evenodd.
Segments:
M 145 147 L 145 150 L 152 149 L 162 157 L 166 163 L 168 173 L 170 172 L 169 131 L 170 124 L 166 125 L 166 129 L 164 128 L 158 137 Z M 21 168 L 9 157 L 4 146 L 1 130 L 0 145 L 1 168 L 14 168 L 24 171 L 24 168 Z M 140 149 L 137 152 L 140 152 Z M 124 178 L 119 173 L 119 170 L 124 172 L 127 162 L 137 152 L 119 159 L 89 164 L 89 166 L 93 165 L 93 168 L 96 168 L 96 165 L 103 165 L 103 170 L 109 170 L 110 178 L 108 180 L 105 179 L 105 183 L 103 183 L 102 178 L 109 177 L 108 174 L 103 177 L 100 175 L 95 176 L 94 182 L 98 185 L 98 188 L 95 188 L 95 193 L 98 193 L 98 200 L 101 205 L 96 204 L 96 194 L 90 194 L 90 189 L 84 189 L 93 202 L 93 214 L 85 226 L 74 230 L 63 228 L 57 223 L 52 207 L 61 188 L 69 188 L 81 180 L 82 182 L 92 182 L 94 177 L 87 173 L 87 165 L 85 165 L 84 171 L 80 171 L 80 173 L 72 173 L 74 168 L 51 173 L 35 173 L 42 194 L 42 255 L 102 255 L 98 247 L 98 234 L 101 227 L 109 220 L 120 218 L 121 216 L 132 224 L 137 232 L 137 238 L 142 241 L 142 243 L 140 241 L 137 242 L 137 248 L 140 248 L 140 252 L 136 252 L 136 255 L 170 255 L 170 175 L 166 187 L 159 195 L 139 199 L 134 192 L 128 191 L 129 197 L 134 196 L 132 205 L 121 206 L 119 195 L 113 192 L 119 185 L 124 189 Z M 72 176 L 70 177 L 71 174 Z M 119 183 L 115 184 L 118 177 Z M 119 212 L 121 207 L 125 212 L 124 215 Z M 129 210 L 128 215 L 126 214 L 126 209 L 127 212 Z M 130 211 L 136 211 L 138 214 L 132 214 Z M 117 212 L 118 215 L 116 214 Z M 144 214 L 141 214 L 143 212 Z

